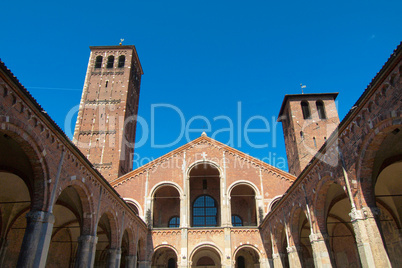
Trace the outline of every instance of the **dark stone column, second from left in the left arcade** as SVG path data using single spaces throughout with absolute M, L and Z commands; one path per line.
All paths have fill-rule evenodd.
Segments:
M 75 267 L 92 267 L 95 260 L 96 243 L 98 237 L 92 235 L 81 235 L 78 238 L 77 261 Z

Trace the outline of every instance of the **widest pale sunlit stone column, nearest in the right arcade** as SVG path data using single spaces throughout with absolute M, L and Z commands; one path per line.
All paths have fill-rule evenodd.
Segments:
M 377 207 L 352 208 L 349 214 L 362 267 L 392 267 L 375 219 L 379 214 Z

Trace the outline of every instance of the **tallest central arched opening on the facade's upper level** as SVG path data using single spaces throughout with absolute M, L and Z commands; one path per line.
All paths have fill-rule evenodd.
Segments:
M 220 175 L 211 164 L 202 163 L 190 171 L 191 226 L 220 226 Z

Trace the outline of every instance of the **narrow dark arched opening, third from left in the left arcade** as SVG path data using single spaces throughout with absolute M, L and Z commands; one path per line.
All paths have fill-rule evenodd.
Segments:
M 109 218 L 103 214 L 99 219 L 96 235 L 98 242 L 96 243 L 95 267 L 107 267 L 109 261 L 109 249 L 111 245 L 111 226 Z

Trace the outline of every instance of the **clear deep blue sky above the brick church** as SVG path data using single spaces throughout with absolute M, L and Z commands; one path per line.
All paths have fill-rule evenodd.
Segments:
M 230 145 L 277 166 L 286 155 L 272 118 L 284 95 L 301 93 L 300 83 L 305 93 L 339 92 L 342 119 L 402 40 L 400 0 L 4 1 L 1 9 L 1 59 L 63 129 L 81 98 L 88 47 L 124 38 L 144 69 L 139 115 L 149 126 L 151 105 L 169 104 L 193 129 L 207 124 L 191 118 L 205 117 L 208 135 L 228 143 L 227 120 L 214 120 L 225 116 L 234 123 Z M 249 128 L 264 127 L 258 118 L 270 124 L 270 133 L 249 135 L 265 148 L 244 138 L 253 116 Z M 156 109 L 154 123 L 156 144 L 180 137 L 173 109 Z M 153 148 L 149 138 L 136 153 L 145 163 L 187 141 Z

